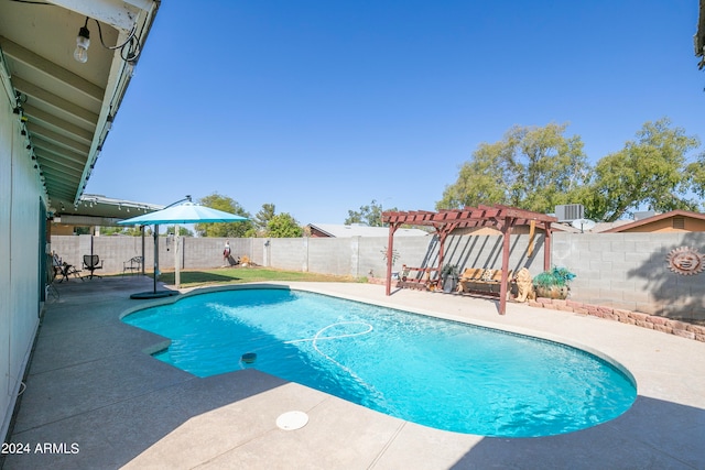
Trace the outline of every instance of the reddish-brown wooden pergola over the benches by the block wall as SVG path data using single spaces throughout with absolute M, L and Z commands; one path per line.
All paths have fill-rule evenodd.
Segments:
M 509 249 L 512 228 L 530 226 L 531 231 L 538 227 L 544 230 L 545 243 L 543 250 L 544 270 L 551 267 L 551 223 L 557 222 L 555 217 L 532 212 L 508 206 L 478 206 L 464 209 L 448 209 L 437 212 L 417 211 L 384 211 L 382 222 L 389 223 L 389 243 L 387 244 L 387 295 L 391 295 L 392 253 L 394 232 L 403 225 L 429 226 L 435 229 L 438 237 L 438 273 L 443 266 L 443 250 L 445 239 L 458 228 L 495 227 L 502 233 L 502 280 L 499 294 L 499 314 L 505 315 L 507 308 L 507 281 L 509 275 Z

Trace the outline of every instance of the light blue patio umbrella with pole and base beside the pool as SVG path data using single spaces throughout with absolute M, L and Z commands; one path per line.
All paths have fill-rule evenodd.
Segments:
M 159 271 L 159 225 L 242 222 L 246 220 L 248 220 L 246 217 L 236 216 L 235 214 L 225 212 L 210 207 L 199 206 L 189 200 L 178 206 L 169 206 L 162 210 L 119 221 L 118 225 L 121 226 L 154 226 L 154 289 L 153 292 L 132 294 L 130 298 L 155 298 L 177 294 L 172 291 L 156 291 L 156 273 Z M 178 227 L 175 227 L 175 237 L 176 250 L 174 251 L 174 255 L 176 256 L 176 261 L 174 263 L 174 269 L 175 284 L 178 287 Z

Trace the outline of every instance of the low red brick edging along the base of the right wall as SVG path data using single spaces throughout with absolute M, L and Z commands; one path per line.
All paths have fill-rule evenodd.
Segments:
M 578 315 L 590 315 L 598 318 L 621 321 L 622 324 L 636 325 L 638 327 L 654 329 L 657 331 L 663 331 L 682 338 L 705 342 L 705 326 L 691 325 L 685 321 L 671 320 L 669 318 L 642 314 L 640 311 L 544 297 L 539 297 L 535 300 L 529 300 L 528 305 L 531 307 L 573 311 Z

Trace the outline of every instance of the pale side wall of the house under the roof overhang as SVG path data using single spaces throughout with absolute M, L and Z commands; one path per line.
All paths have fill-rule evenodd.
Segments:
M 0 436 L 8 433 L 41 309 L 39 173 L 0 84 Z

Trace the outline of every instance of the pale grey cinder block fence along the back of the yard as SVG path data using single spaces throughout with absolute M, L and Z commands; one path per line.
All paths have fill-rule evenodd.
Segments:
M 226 239 L 187 237 L 182 241 L 176 260 L 173 240 L 160 237 L 159 264 L 162 270 L 173 270 L 176 262 L 184 270 L 223 265 Z M 124 261 L 142 254 L 142 243 L 139 237 L 52 237 L 52 250 L 76 266 L 82 265 L 84 254 L 98 254 L 104 261 L 104 274 L 121 273 Z M 387 271 L 387 237 L 248 238 L 229 239 L 229 243 L 234 258 L 247 255 L 258 265 L 275 269 L 352 277 L 383 277 Z M 445 262 L 457 264 L 460 270 L 498 269 L 501 266 L 501 237 L 491 234 L 448 237 Z M 646 321 L 659 329 L 663 325 L 658 320 L 640 315 L 705 324 L 705 273 L 683 275 L 669 266 L 669 253 L 683 247 L 705 253 L 705 233 L 554 233 L 551 258 L 554 265 L 565 266 L 577 275 L 571 284 L 571 303 L 611 309 L 608 315 L 616 315 L 620 320 Z M 528 267 L 532 275 L 539 274 L 543 270 L 543 250 L 541 236 L 533 242 L 528 234 L 512 236 L 510 269 Z M 434 266 L 437 255 L 438 243 L 434 237 L 394 239 L 394 271 L 402 264 Z M 144 239 L 144 256 L 145 269 L 151 272 L 154 265 L 152 238 Z M 556 304 L 554 307 L 571 307 L 589 315 L 598 311 L 589 310 L 592 307 L 576 307 L 576 304 Z M 632 315 L 625 316 L 622 311 Z M 683 330 L 679 324 L 669 327 Z

